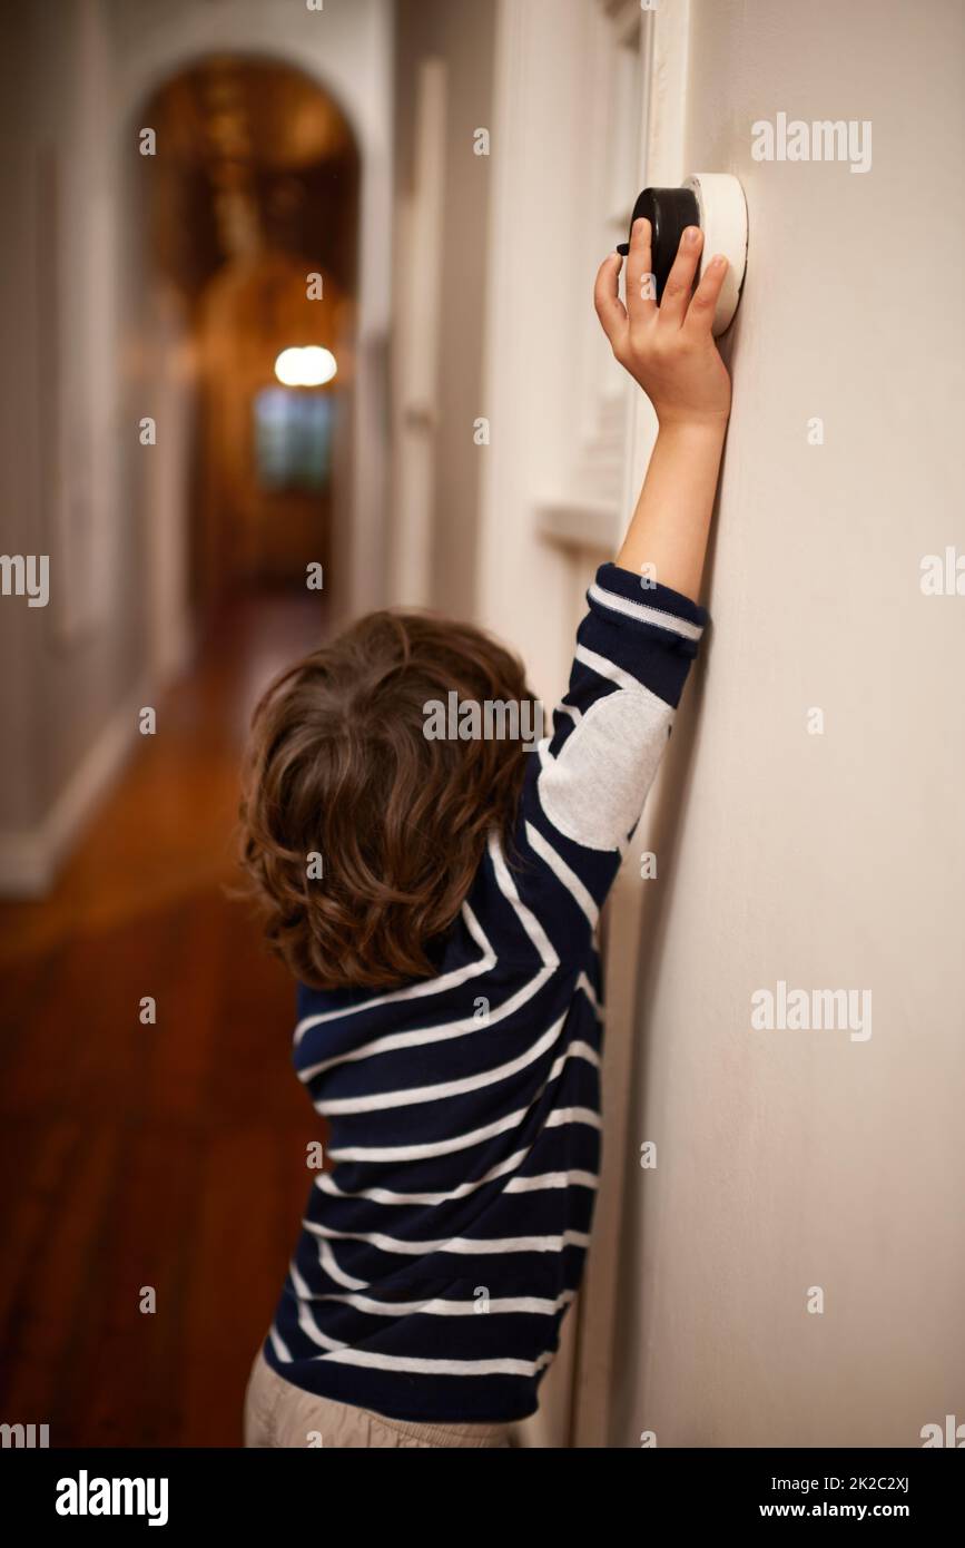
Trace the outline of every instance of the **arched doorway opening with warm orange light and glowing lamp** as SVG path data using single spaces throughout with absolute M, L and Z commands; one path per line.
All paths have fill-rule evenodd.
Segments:
M 360 156 L 339 104 L 277 60 L 193 60 L 139 118 L 156 144 L 141 183 L 153 327 L 182 362 L 167 399 L 165 373 L 152 382 L 179 426 L 164 488 L 181 460 L 179 515 L 147 491 L 152 568 L 198 625 L 329 568 L 351 500 Z M 286 372 L 292 350 L 323 368 Z

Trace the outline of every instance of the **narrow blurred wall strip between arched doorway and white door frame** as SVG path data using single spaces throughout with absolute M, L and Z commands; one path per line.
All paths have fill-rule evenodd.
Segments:
M 391 599 L 473 608 L 495 0 L 396 9 Z

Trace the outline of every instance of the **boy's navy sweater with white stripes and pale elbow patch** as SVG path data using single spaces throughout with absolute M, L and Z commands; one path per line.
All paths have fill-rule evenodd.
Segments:
M 588 591 L 515 847 L 490 839 L 435 978 L 298 989 L 294 1062 L 331 1125 L 264 1342 L 308 1392 L 510 1421 L 574 1299 L 600 1163 L 595 929 L 707 615 L 615 565 Z

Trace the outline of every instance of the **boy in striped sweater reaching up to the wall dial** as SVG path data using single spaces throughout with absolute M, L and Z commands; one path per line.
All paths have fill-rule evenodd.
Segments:
M 509 1446 L 575 1296 L 600 1156 L 595 924 L 707 621 L 730 413 L 727 262 L 693 291 L 690 228 L 657 307 L 650 240 L 639 220 L 628 310 L 619 254 L 595 305 L 659 435 L 552 738 L 427 737 L 453 690 L 527 690 L 481 632 L 404 613 L 362 619 L 255 714 L 246 864 L 298 978 L 294 1060 L 336 1169 L 252 1368 L 247 1446 Z

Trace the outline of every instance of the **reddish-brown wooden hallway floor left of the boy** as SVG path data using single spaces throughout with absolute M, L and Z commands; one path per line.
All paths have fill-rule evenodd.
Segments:
M 240 1444 L 323 1127 L 291 980 L 226 896 L 238 749 L 319 638 L 317 601 L 240 604 L 56 892 L 0 909 L 0 1421 L 51 1446 Z

